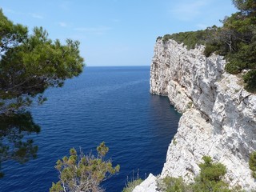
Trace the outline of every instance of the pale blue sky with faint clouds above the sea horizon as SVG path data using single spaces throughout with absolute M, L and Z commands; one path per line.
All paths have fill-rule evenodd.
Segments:
M 221 26 L 231 0 L 0 0 L 14 23 L 81 42 L 87 66 L 149 66 L 158 36 Z

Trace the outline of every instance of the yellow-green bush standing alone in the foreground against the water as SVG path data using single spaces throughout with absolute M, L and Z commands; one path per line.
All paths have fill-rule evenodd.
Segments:
M 56 162 L 60 181 L 53 183 L 50 191 L 103 191 L 100 183 L 120 170 L 119 165 L 112 166 L 110 160 L 104 159 L 108 150 L 104 142 L 97 147 L 97 157 L 82 152 L 78 156 L 74 148 L 70 149 L 69 157 L 65 156 Z

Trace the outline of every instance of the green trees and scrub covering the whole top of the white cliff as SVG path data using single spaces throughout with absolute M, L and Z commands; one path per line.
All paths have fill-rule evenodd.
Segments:
M 205 45 L 205 55 L 212 53 L 225 56 L 226 71 L 230 74 L 243 72 L 246 90 L 256 92 L 256 2 L 233 0 L 238 12 L 222 20 L 223 26 L 206 30 L 166 34 L 162 41 L 172 38 L 183 42 L 188 49 Z M 160 39 L 161 37 L 158 37 Z

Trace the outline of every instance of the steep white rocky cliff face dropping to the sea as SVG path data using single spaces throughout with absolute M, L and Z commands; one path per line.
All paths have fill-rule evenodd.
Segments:
M 256 95 L 224 71 L 221 56 L 206 58 L 203 50 L 186 50 L 173 40 L 158 40 L 154 47 L 150 93 L 168 96 L 182 113 L 160 177 L 182 176 L 191 182 L 202 156 L 210 155 L 226 166 L 230 186 L 256 188 L 248 164 L 256 150 Z

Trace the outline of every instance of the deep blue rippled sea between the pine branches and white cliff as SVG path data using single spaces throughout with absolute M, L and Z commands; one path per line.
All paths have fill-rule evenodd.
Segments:
M 166 151 L 177 132 L 180 114 L 168 98 L 152 95 L 150 66 L 86 67 L 65 86 L 46 91 L 48 101 L 32 109 L 41 132 L 30 135 L 38 158 L 25 164 L 5 162 L 0 191 L 49 191 L 58 181 L 55 162 L 71 147 L 95 152 L 102 141 L 107 158 L 120 173 L 103 183 L 107 192 L 122 191 L 127 176 L 160 174 Z

